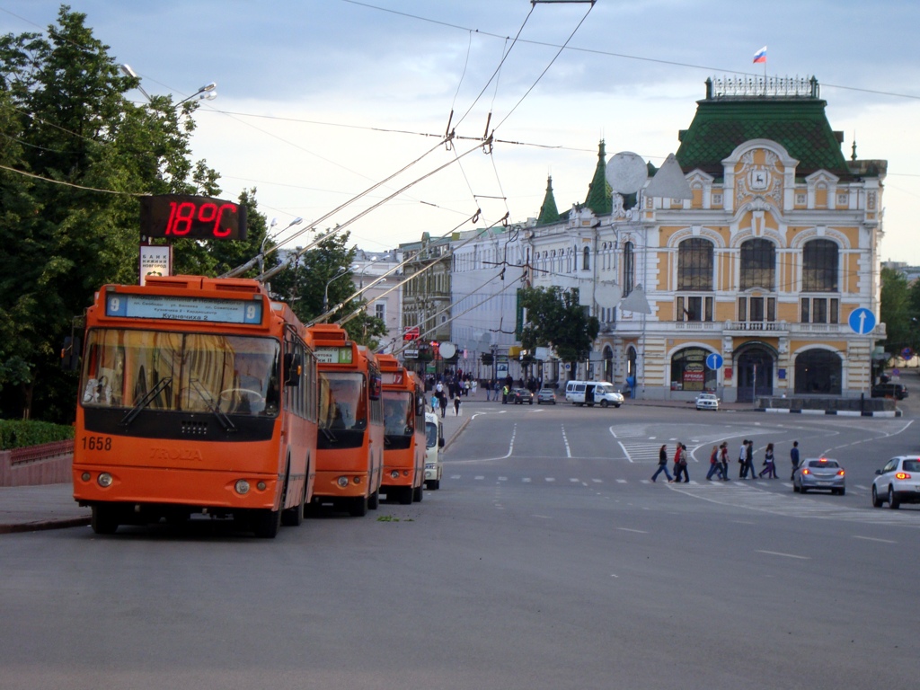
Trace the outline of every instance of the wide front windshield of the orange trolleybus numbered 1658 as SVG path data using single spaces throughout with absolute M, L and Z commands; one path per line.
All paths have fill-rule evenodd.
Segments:
M 92 328 L 80 400 L 85 408 L 135 413 L 275 416 L 280 351 L 270 338 Z

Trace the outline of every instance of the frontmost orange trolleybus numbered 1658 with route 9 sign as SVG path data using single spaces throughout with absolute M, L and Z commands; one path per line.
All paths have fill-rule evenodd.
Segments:
M 299 524 L 316 471 L 316 361 L 259 282 L 105 285 L 86 312 L 74 498 L 98 534 L 233 517 Z

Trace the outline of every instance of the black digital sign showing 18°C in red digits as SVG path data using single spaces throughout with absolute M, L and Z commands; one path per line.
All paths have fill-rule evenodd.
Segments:
M 246 239 L 246 207 L 187 194 L 141 197 L 141 235 Z

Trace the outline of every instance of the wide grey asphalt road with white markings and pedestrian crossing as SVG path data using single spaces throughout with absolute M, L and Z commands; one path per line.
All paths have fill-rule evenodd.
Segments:
M 893 420 L 466 403 L 442 489 L 274 541 L 196 521 L 0 536 L 3 688 L 913 686 L 920 507 Z M 706 482 L 709 450 L 779 479 Z M 683 441 L 689 485 L 649 481 Z M 847 470 L 799 496 L 788 447 Z

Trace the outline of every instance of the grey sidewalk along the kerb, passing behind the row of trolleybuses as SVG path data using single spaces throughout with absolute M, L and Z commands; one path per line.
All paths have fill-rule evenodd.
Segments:
M 483 396 L 482 400 L 485 399 Z M 450 446 L 454 437 L 469 423 L 470 417 L 464 412 L 466 410 L 456 417 L 454 407 L 448 408 L 442 420 L 444 448 Z M 37 487 L 0 487 L 0 535 L 79 527 L 89 524 L 89 516 L 88 508 L 80 508 L 76 504 L 74 488 L 69 482 Z

